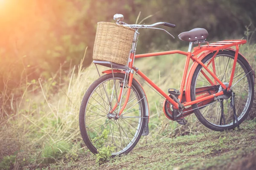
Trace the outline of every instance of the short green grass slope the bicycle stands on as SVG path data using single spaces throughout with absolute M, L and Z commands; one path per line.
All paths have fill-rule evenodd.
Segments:
M 209 132 L 163 138 L 134 148 L 97 166 L 95 157 L 67 164 L 52 164 L 45 170 L 64 169 L 250 169 L 256 167 L 256 119 L 242 124 L 242 130 Z

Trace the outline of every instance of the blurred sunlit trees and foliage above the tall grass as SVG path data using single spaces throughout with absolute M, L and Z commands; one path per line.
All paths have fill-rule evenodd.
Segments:
M 241 39 L 245 26 L 256 26 L 255 0 L 0 0 L 0 90 L 20 87 L 38 77 L 49 78 L 80 62 L 92 62 L 96 24 L 121 13 L 126 23 L 176 24 L 175 37 L 206 28 L 208 40 Z M 164 32 L 140 31 L 137 54 L 187 45 Z M 254 35 L 252 42 L 256 41 Z

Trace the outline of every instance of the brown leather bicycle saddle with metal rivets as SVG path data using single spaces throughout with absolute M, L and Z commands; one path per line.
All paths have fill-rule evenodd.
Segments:
M 194 28 L 190 31 L 180 33 L 178 37 L 182 41 L 205 40 L 208 37 L 208 32 L 204 28 Z

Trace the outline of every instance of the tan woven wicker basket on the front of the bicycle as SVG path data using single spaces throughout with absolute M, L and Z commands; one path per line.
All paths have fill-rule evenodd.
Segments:
M 116 23 L 99 22 L 93 59 L 126 65 L 135 30 Z

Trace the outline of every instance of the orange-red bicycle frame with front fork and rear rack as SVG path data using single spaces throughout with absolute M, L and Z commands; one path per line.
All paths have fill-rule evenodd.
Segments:
M 192 43 L 190 42 L 189 47 L 192 47 Z M 194 67 L 196 68 L 196 66 L 198 64 L 202 65 L 203 68 L 205 68 L 205 70 L 213 77 L 214 81 L 212 82 L 212 80 L 207 76 L 207 74 L 204 73 L 204 71 L 201 70 L 201 73 L 204 75 L 204 77 L 209 81 L 209 83 L 211 85 L 221 85 L 221 87 L 223 89 L 227 89 L 227 91 L 230 90 L 231 86 L 232 86 L 232 81 L 233 81 L 233 77 L 234 77 L 234 73 L 235 73 L 235 68 L 236 68 L 236 61 L 237 61 L 237 57 L 239 54 L 239 45 L 241 44 L 245 44 L 246 40 L 224 40 L 224 41 L 219 41 L 219 42 L 215 42 L 215 43 L 211 43 L 211 44 L 207 44 L 207 45 L 198 45 L 198 47 L 194 48 L 194 51 L 191 53 L 189 52 L 184 52 L 184 51 L 180 51 L 180 50 L 173 50 L 173 51 L 163 51 L 163 52 L 156 52 L 156 53 L 148 53 L 148 54 L 137 54 L 134 55 L 134 52 L 131 51 L 130 56 L 129 56 L 129 63 L 128 63 L 128 67 L 130 68 L 130 72 L 129 72 L 129 81 L 128 81 L 128 91 L 127 91 L 127 96 L 125 98 L 125 102 L 123 104 L 123 107 L 121 108 L 121 110 L 119 111 L 119 115 L 121 115 L 122 111 L 125 109 L 125 106 L 128 103 L 128 99 L 130 96 L 130 91 L 131 91 L 131 83 L 132 83 L 132 79 L 133 79 L 133 74 L 134 71 L 139 74 L 143 79 L 145 79 L 146 82 L 148 82 L 148 84 L 150 84 L 154 89 L 156 89 L 161 95 L 163 95 L 176 109 L 179 109 L 179 104 L 177 102 L 175 102 L 168 94 L 166 94 L 163 90 L 161 90 L 154 82 L 151 81 L 151 79 L 149 79 L 145 74 L 143 74 L 142 71 L 140 71 L 138 68 L 136 68 L 133 63 L 134 63 L 134 59 L 135 58 L 143 58 L 143 57 L 153 57 L 153 56 L 160 56 L 160 55 L 168 55 L 168 54 L 182 54 L 184 56 L 186 56 L 186 62 L 185 62 L 185 67 L 184 67 L 184 71 L 183 71 L 183 77 L 181 80 L 181 85 L 180 85 L 180 95 L 178 97 L 179 101 L 181 101 L 182 96 L 183 96 L 183 90 L 185 87 L 185 83 L 186 80 L 191 80 L 192 79 L 192 75 L 193 75 L 193 71 L 188 74 L 188 69 L 189 69 L 189 61 L 190 59 L 193 60 L 194 62 Z M 224 85 L 220 79 L 218 79 L 218 77 L 216 76 L 215 73 L 215 63 L 214 63 L 214 57 L 216 56 L 216 54 L 218 53 L 219 50 L 223 50 L 226 48 L 229 48 L 231 46 L 236 46 L 236 53 L 235 53 L 235 58 L 234 58 L 234 62 L 233 62 L 233 68 L 231 71 L 231 75 L 230 75 L 230 82 L 228 87 L 226 87 L 226 85 Z M 204 51 L 209 51 L 209 52 L 213 52 L 216 51 L 215 54 L 213 55 L 212 59 L 209 61 L 209 63 L 207 65 L 204 65 L 203 62 L 201 62 L 200 57 L 197 57 L 198 54 L 201 54 Z M 212 63 L 212 68 L 213 68 L 213 72 L 209 70 L 208 66 L 209 64 Z M 187 82 L 191 83 L 191 82 Z M 189 106 L 189 105 L 193 105 L 205 100 L 209 100 L 209 99 L 213 99 L 214 97 L 223 95 L 224 92 L 218 92 L 215 94 L 210 94 L 207 96 L 201 96 L 196 98 L 194 101 L 190 100 L 190 90 L 186 90 L 184 91 L 185 96 L 186 96 L 186 102 L 183 102 L 183 106 Z M 120 90 L 120 94 L 118 97 L 118 102 L 120 102 L 120 98 L 121 98 L 121 94 L 122 94 L 122 88 Z M 189 96 L 189 97 L 188 97 Z M 117 103 L 114 105 L 114 107 L 111 110 L 111 113 L 116 109 L 117 107 Z

